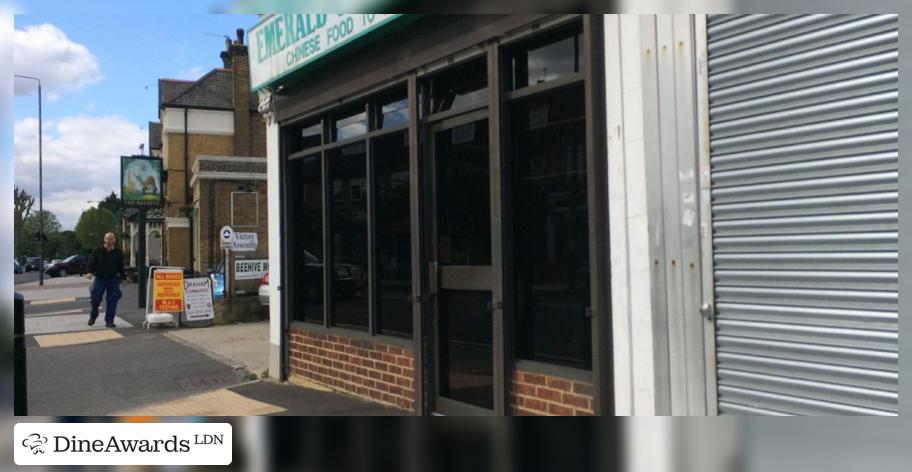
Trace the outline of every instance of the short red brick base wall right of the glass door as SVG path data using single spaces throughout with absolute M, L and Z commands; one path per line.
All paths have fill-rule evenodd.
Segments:
M 517 370 L 510 379 L 514 415 L 588 416 L 593 414 L 591 383 Z

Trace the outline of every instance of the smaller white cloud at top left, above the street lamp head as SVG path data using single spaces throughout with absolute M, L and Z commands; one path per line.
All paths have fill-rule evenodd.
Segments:
M 49 23 L 26 26 L 13 33 L 13 63 L 16 74 L 41 79 L 49 100 L 101 80 L 98 59 L 89 49 Z M 29 95 L 37 89 L 34 81 L 17 79 L 15 90 L 16 95 Z

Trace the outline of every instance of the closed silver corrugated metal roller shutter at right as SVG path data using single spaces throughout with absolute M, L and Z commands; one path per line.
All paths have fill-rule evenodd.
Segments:
M 719 411 L 896 414 L 895 15 L 710 15 Z

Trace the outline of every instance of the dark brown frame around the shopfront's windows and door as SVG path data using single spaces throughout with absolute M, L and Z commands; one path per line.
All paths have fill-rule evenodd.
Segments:
M 584 84 L 585 96 L 586 96 L 586 161 L 587 161 L 587 198 L 589 203 L 589 219 L 590 219 L 590 238 L 589 238 L 589 251 L 590 251 L 590 277 L 591 277 L 591 289 L 590 296 L 592 298 L 592 322 L 593 322 L 593 339 L 592 339 L 592 353 L 593 353 L 593 369 L 591 372 L 591 381 L 595 387 L 594 393 L 594 410 L 596 414 L 613 414 L 613 388 L 612 388 L 612 365 L 611 365 L 611 336 L 610 336 L 610 281 L 608 279 L 608 248 L 607 248 L 607 192 L 606 192 L 606 182 L 604 181 L 604 173 L 607 172 L 606 162 L 605 162 L 605 110 L 604 110 L 604 90 L 600 90 L 600 87 L 603 87 L 603 81 L 599 81 L 599 77 L 604 75 L 604 58 L 600 57 L 604 51 L 603 43 L 603 20 L 600 15 L 581 15 L 583 30 L 582 38 L 583 44 L 585 45 L 584 54 L 586 55 L 585 65 L 581 68 L 581 71 L 574 73 L 571 76 L 562 77 L 554 81 L 549 81 L 543 84 L 532 85 L 522 89 L 522 91 L 516 91 L 510 94 L 503 93 L 503 84 L 501 83 L 502 74 L 500 70 L 502 68 L 501 59 L 502 59 L 502 48 L 506 45 L 513 45 L 517 41 L 527 39 L 529 36 L 537 35 L 552 28 L 560 28 L 565 26 L 570 21 L 575 21 L 580 18 L 580 15 L 561 15 L 555 16 L 554 18 L 547 20 L 536 20 L 535 22 L 519 29 L 510 32 L 506 32 L 499 36 L 498 38 L 492 39 L 485 43 L 480 43 L 475 46 L 472 46 L 459 54 L 450 55 L 446 58 L 440 59 L 434 63 L 430 63 L 425 66 L 420 66 L 411 72 L 400 75 L 393 78 L 392 80 L 383 80 L 378 77 L 377 85 L 363 89 L 362 92 L 353 94 L 350 97 L 345 99 L 335 101 L 326 106 L 318 107 L 308 113 L 295 116 L 294 118 L 288 119 L 280 124 L 280 137 L 282 142 L 280 143 L 280 149 L 282 152 L 282 157 L 280 159 L 282 167 L 280 172 L 282 175 L 282 185 L 287 186 L 287 183 L 284 182 L 284 179 L 287 178 L 287 162 L 304 156 L 310 156 L 313 154 L 319 153 L 319 158 L 321 162 L 321 173 L 322 173 L 322 193 L 323 193 L 323 204 L 322 204 L 322 236 L 323 236 L 323 260 L 324 263 L 323 270 L 323 289 L 324 289 L 324 303 L 323 303 L 323 326 L 319 329 L 325 329 L 330 332 L 338 331 L 342 332 L 346 330 L 344 327 L 336 327 L 332 325 L 332 275 L 330 274 L 330 265 L 329 261 L 332 260 L 332 248 L 331 244 L 328 244 L 331 241 L 331 235 L 329 234 L 330 230 L 330 215 L 328 214 L 329 205 L 331 204 L 332 190 L 330 188 L 330 179 L 328 174 L 328 158 L 327 151 L 332 148 L 339 146 L 344 146 L 350 144 L 351 142 L 365 140 L 367 142 L 367 151 L 368 151 L 368 161 L 372 163 L 370 157 L 370 150 L 372 148 L 371 141 L 375 137 L 379 137 L 386 134 L 392 134 L 396 132 L 401 132 L 404 130 L 408 131 L 408 142 L 409 142 L 409 179 L 410 179 L 410 213 L 411 213 L 411 251 L 412 251 L 412 338 L 410 340 L 406 338 L 395 338 L 399 341 L 412 343 L 414 346 L 414 358 L 415 358 L 415 414 L 423 415 L 429 413 L 429 408 L 433 403 L 434 396 L 434 386 L 430 384 L 430 379 L 433 377 L 429 373 L 434 369 L 434 355 L 433 349 L 430 348 L 429 343 L 433 342 L 431 339 L 432 336 L 432 323 L 430 322 L 433 317 L 433 303 L 428 303 L 431 300 L 429 297 L 429 282 L 428 282 L 428 270 L 427 270 L 427 260 L 428 256 L 431 254 L 432 249 L 429 246 L 429 235 L 427 234 L 427 225 L 429 222 L 432 222 L 430 218 L 433 212 L 433 209 L 429 208 L 427 204 L 427 197 L 429 195 L 429 174 L 432 169 L 429 169 L 424 162 L 423 156 L 427 155 L 428 149 L 428 136 L 429 136 L 429 126 L 432 122 L 441 122 L 444 120 L 449 120 L 455 118 L 456 115 L 461 115 L 467 111 L 480 111 L 481 109 L 487 108 L 486 112 L 488 113 L 488 126 L 489 126 L 489 139 L 490 139 L 490 152 L 491 152 L 491 178 L 493 181 L 492 185 L 492 198 L 491 204 L 492 207 L 496 206 L 498 208 L 492 208 L 492 268 L 495 272 L 495 282 L 492 287 L 492 301 L 507 301 L 508 303 L 503 303 L 504 309 L 495 310 L 495 326 L 493 333 L 499 341 L 495 341 L 493 348 L 495 349 L 495 363 L 497 369 L 495 369 L 495 410 L 494 414 L 510 414 L 507 411 L 510 408 L 510 388 L 509 382 L 510 377 L 517 367 L 522 370 L 529 371 L 538 371 L 546 370 L 549 375 L 562 376 L 572 380 L 582 380 L 586 381 L 588 376 L 586 374 L 589 371 L 582 371 L 580 369 L 573 369 L 570 367 L 557 366 L 557 365 L 546 365 L 541 369 L 538 368 L 536 362 L 534 361 L 522 361 L 521 365 L 517 365 L 515 359 L 515 326 L 514 320 L 512 318 L 512 312 L 509 299 L 512 297 L 512 287 L 511 283 L 511 266 L 512 262 L 510 260 L 510 238 L 511 228 L 509 225 L 505 225 L 505 221 L 511 221 L 509 219 L 510 207 L 509 207 L 509 189 L 510 184 L 504 180 L 505 175 L 510 175 L 510 163 L 508 159 L 505 159 L 505 153 L 507 152 L 504 147 L 506 146 L 505 141 L 503 140 L 503 133 L 508 127 L 505 127 L 505 121 L 508 119 L 503 113 L 503 106 L 511 100 L 518 100 L 526 96 L 531 96 L 533 94 L 544 93 L 547 91 L 555 90 L 560 87 L 577 85 L 580 83 Z M 427 94 L 425 93 L 424 100 L 419 100 L 419 92 L 422 87 L 421 81 L 428 76 L 441 72 L 443 69 L 448 68 L 451 65 L 457 65 L 455 58 L 459 56 L 460 61 L 462 60 L 471 60 L 478 58 L 480 55 L 485 54 L 486 61 L 488 64 L 488 81 L 489 81 L 489 90 L 488 98 L 485 102 L 477 105 L 466 107 L 466 109 L 460 110 L 448 110 L 446 112 L 439 113 L 435 116 L 428 116 L 426 103 Z M 492 73 L 495 71 L 496 73 Z M 373 123 L 371 122 L 375 117 L 371 109 L 371 96 L 380 95 L 385 91 L 394 88 L 396 86 L 401 86 L 405 84 L 407 90 L 407 99 L 409 102 L 409 122 L 406 125 L 400 125 L 394 128 L 374 130 Z M 345 142 L 331 143 L 328 139 L 330 136 L 330 126 L 332 123 L 331 119 L 326 119 L 331 116 L 334 110 L 340 109 L 340 107 L 345 107 L 350 105 L 352 102 L 357 102 L 360 100 L 367 100 L 367 113 L 369 120 L 369 130 L 368 133 L 357 138 L 352 138 L 351 140 L 346 140 Z M 425 108 L 421 108 L 425 107 Z M 422 113 L 423 111 L 423 113 Z M 313 120 L 318 117 L 322 117 L 323 124 L 323 145 L 317 146 L 314 148 L 297 151 L 292 154 L 286 154 L 287 152 L 287 136 L 283 133 L 285 129 L 289 126 L 292 126 L 296 123 L 300 123 L 306 120 Z M 457 118 L 458 119 L 458 118 Z M 376 244 L 375 234 L 371 228 L 372 218 L 373 218 L 373 172 L 372 167 L 368 167 L 367 175 L 367 186 L 368 190 L 368 212 L 369 212 L 369 234 L 368 234 L 368 252 L 369 252 L 369 264 L 373 263 Z M 507 190 L 507 191 L 505 191 Z M 494 192 L 497 193 L 495 197 Z M 281 212 L 284 219 L 288 219 L 290 214 L 290 209 L 288 208 L 287 195 L 285 188 L 281 190 Z M 290 243 L 288 241 L 287 235 L 287 225 L 283 222 L 281 223 L 282 235 L 285 236 L 282 244 L 283 252 L 287 253 L 289 250 Z M 495 235 L 495 233 L 497 233 Z M 497 241 L 495 243 L 495 240 Z M 495 259 L 495 257 L 497 259 Z M 370 270 L 372 284 L 376 283 L 376 277 L 373 274 L 375 267 L 372 267 Z M 287 271 L 286 265 L 283 265 L 283 272 Z M 284 277 L 283 277 L 284 279 Z M 496 291 L 496 293 L 495 293 Z M 285 290 L 283 297 L 288 297 L 288 290 Z M 372 288 L 372 297 L 376 296 L 376 288 Z M 373 298 L 372 298 L 373 299 Z M 287 301 L 283 299 L 283 305 L 287 305 Z M 380 338 L 385 337 L 376 332 L 376 311 L 371 303 L 370 313 L 368 315 L 369 323 L 372 325 L 367 333 L 361 333 L 367 339 L 380 341 Z M 286 325 L 290 325 L 290 317 L 287 313 L 283 313 L 283 320 Z M 308 323 L 307 321 L 295 322 L 300 324 L 302 327 L 312 327 L 315 326 L 314 323 Z M 287 332 L 287 330 L 286 330 Z M 500 344 L 498 347 L 497 345 Z M 287 343 L 283 348 L 285 356 L 287 356 Z M 604 364 L 604 365 L 602 365 Z M 287 362 L 286 362 L 287 366 Z M 499 372 L 498 372 L 499 371 Z

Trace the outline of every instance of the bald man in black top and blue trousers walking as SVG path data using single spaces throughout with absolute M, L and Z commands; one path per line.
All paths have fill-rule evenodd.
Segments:
M 89 326 L 95 324 L 98 318 L 98 305 L 101 297 L 107 293 L 105 302 L 105 326 L 116 328 L 114 313 L 117 310 L 117 300 L 120 300 L 120 279 L 124 275 L 123 255 L 114 247 L 114 233 L 105 234 L 104 245 L 96 248 L 89 254 L 86 267 L 86 278 L 92 283 L 92 312 L 89 313 Z

